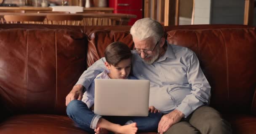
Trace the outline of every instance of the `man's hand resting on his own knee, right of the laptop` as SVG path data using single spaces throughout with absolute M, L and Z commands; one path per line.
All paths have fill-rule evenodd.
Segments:
M 165 114 L 159 124 L 158 133 L 163 134 L 166 132 L 173 124 L 178 123 L 185 115 L 179 110 L 173 110 L 168 114 Z

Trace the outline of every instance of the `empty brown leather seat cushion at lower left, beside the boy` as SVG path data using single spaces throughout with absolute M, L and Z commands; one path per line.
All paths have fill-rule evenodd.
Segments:
M 67 116 L 24 114 L 1 122 L 0 134 L 87 134 Z

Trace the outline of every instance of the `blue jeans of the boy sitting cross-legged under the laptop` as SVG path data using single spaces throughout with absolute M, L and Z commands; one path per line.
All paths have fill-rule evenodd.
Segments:
M 67 106 L 67 115 L 83 130 L 94 134 L 92 121 L 98 115 L 94 114 L 83 101 L 73 100 Z M 101 116 L 98 116 L 101 117 Z M 137 123 L 138 132 L 156 132 L 162 113 L 150 113 L 147 117 L 140 116 L 102 116 L 114 124 L 125 125 L 127 121 Z

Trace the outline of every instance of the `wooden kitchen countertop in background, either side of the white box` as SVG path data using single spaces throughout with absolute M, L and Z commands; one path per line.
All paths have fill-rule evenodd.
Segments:
M 52 10 L 51 7 L 32 7 L 32 6 L 24 6 L 24 7 L 0 7 L 0 10 Z M 101 11 L 112 11 L 114 8 L 100 8 L 100 7 L 91 7 L 91 8 L 83 8 L 83 10 L 101 10 Z

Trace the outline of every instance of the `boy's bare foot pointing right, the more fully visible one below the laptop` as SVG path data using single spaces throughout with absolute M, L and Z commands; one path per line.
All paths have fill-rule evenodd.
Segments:
M 129 125 L 120 126 L 117 129 L 117 134 L 136 134 L 138 128 L 136 123 L 132 123 Z

